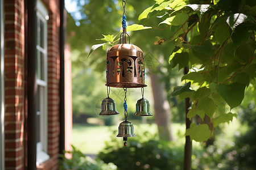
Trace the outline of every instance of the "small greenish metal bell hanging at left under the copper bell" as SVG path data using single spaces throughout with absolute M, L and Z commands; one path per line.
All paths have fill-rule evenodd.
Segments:
M 119 114 L 115 108 L 115 101 L 110 97 L 106 97 L 101 103 L 101 116 L 109 116 Z

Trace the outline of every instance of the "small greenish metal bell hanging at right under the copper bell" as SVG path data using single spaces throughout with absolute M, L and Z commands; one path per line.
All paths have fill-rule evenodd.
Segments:
M 150 103 L 147 99 L 139 99 L 136 104 L 136 112 L 133 114 L 134 116 L 152 116 L 150 112 Z

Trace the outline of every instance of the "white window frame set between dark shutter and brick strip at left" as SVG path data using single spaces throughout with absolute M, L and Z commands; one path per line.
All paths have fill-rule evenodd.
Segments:
M 38 93 L 40 94 L 40 99 L 39 99 L 39 108 L 40 111 L 37 112 L 37 114 L 40 115 L 40 142 L 36 143 L 36 165 L 40 165 L 41 163 L 45 162 L 46 160 L 49 159 L 49 155 L 47 154 L 47 142 L 48 142 L 48 109 L 47 109 L 47 20 L 49 18 L 48 16 L 48 11 L 47 8 L 44 6 L 44 4 L 38 0 L 37 4 L 37 24 L 38 27 L 37 29 L 40 30 L 40 21 L 43 22 L 43 32 L 44 32 L 44 48 L 39 46 L 38 44 L 36 45 L 36 51 L 37 51 L 37 56 L 38 59 L 38 70 L 40 69 L 40 55 L 43 53 L 43 62 L 44 62 L 44 79 L 39 79 L 36 77 L 36 84 L 38 85 Z M 37 37 L 40 37 L 40 32 L 42 30 L 38 31 Z M 38 43 L 38 42 L 37 42 Z M 40 73 L 39 73 L 40 74 Z

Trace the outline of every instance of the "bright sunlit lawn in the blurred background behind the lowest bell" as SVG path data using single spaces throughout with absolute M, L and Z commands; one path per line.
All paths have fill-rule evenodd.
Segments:
M 134 125 L 135 134 L 139 129 L 145 129 L 151 133 L 156 133 L 157 126 L 155 124 Z M 110 141 L 113 131 L 117 131 L 118 125 L 115 126 L 92 126 L 73 124 L 72 145 L 79 148 L 84 154 L 98 154 L 105 147 L 105 141 Z M 144 130 L 144 131 L 145 131 Z M 185 126 L 181 124 L 172 124 L 172 132 L 175 139 L 183 139 Z M 117 135 L 117 134 L 115 134 Z M 122 142 L 122 138 L 120 138 Z

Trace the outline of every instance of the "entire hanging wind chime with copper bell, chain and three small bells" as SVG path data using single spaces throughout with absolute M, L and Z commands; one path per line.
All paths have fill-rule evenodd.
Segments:
M 150 112 L 150 103 L 144 99 L 144 56 L 142 50 L 133 44 L 130 44 L 130 36 L 126 33 L 126 1 L 122 1 L 123 17 L 122 28 L 123 32 L 120 35 L 119 44 L 112 46 L 106 54 L 106 86 L 108 97 L 102 100 L 101 116 L 109 116 L 119 114 L 115 107 L 114 99 L 109 97 L 110 87 L 123 88 L 125 98 L 123 103 L 125 121 L 121 122 L 118 127 L 117 137 L 122 137 L 127 146 L 127 138 L 135 137 L 134 126 L 127 121 L 127 104 L 126 94 L 127 88 L 141 87 L 142 99 L 139 99 L 136 104 L 136 112 L 134 116 L 152 116 Z M 126 42 L 126 35 L 129 39 L 129 44 Z

